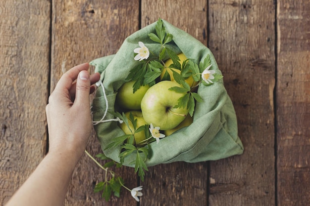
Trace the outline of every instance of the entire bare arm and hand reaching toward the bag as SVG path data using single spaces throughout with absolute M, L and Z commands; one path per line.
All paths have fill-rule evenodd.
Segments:
M 100 75 L 90 75 L 88 68 L 88 63 L 73 67 L 57 83 L 46 107 L 49 152 L 6 206 L 63 205 L 92 131 L 89 94 Z

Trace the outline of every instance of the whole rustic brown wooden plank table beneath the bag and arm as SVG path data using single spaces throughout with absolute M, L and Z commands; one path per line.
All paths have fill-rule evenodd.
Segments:
M 310 205 L 309 0 L 1 0 L 1 205 L 48 151 L 45 106 L 60 76 L 158 17 L 213 52 L 245 152 L 151 167 L 143 183 L 117 169 L 130 188 L 143 185 L 138 205 Z M 95 134 L 87 150 L 101 152 Z M 95 194 L 103 173 L 83 156 L 65 205 L 137 205 L 125 190 L 108 203 Z

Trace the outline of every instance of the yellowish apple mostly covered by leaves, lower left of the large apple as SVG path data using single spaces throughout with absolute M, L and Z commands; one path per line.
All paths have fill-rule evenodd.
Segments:
M 131 121 L 129 120 L 130 113 L 132 113 L 132 115 L 134 116 L 134 119 L 137 120 L 137 128 L 139 128 L 140 126 L 143 126 L 145 124 L 148 124 L 143 119 L 142 112 L 140 112 L 140 111 L 129 111 L 129 112 L 126 112 L 125 115 L 126 115 L 126 117 L 128 119 L 128 124 L 129 124 L 130 129 L 128 128 L 128 126 L 125 123 L 119 124 L 119 127 L 125 132 L 125 134 L 133 134 L 132 132 L 135 132 L 134 126 L 131 123 Z M 137 132 L 137 133 L 135 133 L 133 135 L 135 137 L 135 142 L 136 142 L 137 145 L 139 145 L 139 143 L 141 141 L 146 139 L 144 130 L 140 131 L 140 132 Z

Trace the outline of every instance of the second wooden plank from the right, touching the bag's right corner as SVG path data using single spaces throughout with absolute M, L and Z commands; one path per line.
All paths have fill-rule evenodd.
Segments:
M 275 5 L 209 0 L 209 47 L 223 72 L 245 152 L 210 163 L 210 206 L 275 205 Z

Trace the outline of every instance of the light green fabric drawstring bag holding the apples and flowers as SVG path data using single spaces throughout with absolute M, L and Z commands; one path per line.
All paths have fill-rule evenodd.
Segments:
M 171 49 L 176 53 L 183 52 L 188 58 L 199 61 L 208 54 L 212 69 L 221 74 L 211 51 L 204 44 L 170 23 L 162 21 L 166 33 L 173 35 L 175 44 L 172 43 Z M 108 111 L 114 111 L 117 90 L 126 82 L 125 79 L 129 71 L 138 63 L 134 60 L 133 52 L 135 48 L 139 47 L 138 41 L 144 42 L 150 51 L 159 51 L 159 44 L 148 36 L 149 33 L 155 33 L 155 25 L 156 22 L 130 35 L 116 54 L 95 59 L 90 63 L 95 66 L 96 72 L 101 73 Z M 204 101 L 196 103 L 193 123 L 160 139 L 158 144 L 156 141 L 152 142 L 153 155 L 146 161 L 147 166 L 176 161 L 195 163 L 219 160 L 243 153 L 244 148 L 238 137 L 235 110 L 223 81 L 214 82 L 210 86 L 200 84 L 198 94 Z M 106 101 L 100 86 L 93 100 L 94 121 L 102 119 L 105 108 Z M 114 116 L 107 113 L 105 119 L 114 119 Z M 121 146 L 104 150 L 113 138 L 124 135 L 117 122 L 100 123 L 94 125 L 94 128 L 105 156 L 119 162 Z M 123 165 L 134 167 L 135 157 L 134 154 L 126 157 Z

